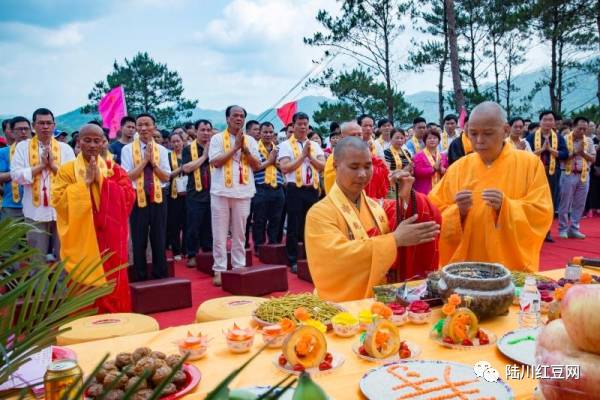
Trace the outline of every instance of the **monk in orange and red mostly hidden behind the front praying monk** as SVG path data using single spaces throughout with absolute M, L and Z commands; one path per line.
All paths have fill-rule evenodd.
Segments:
M 341 126 L 342 139 L 345 137 L 361 137 L 362 133 L 362 128 L 354 121 L 344 122 Z M 386 197 L 390 188 L 388 179 L 390 170 L 385 161 L 379 158 L 374 152 L 374 147 L 372 147 L 374 146 L 374 143 L 371 142 L 369 145 L 373 173 L 369 183 L 365 187 L 365 193 L 372 199 L 383 199 Z M 327 161 L 325 162 L 325 170 L 323 172 L 325 193 L 329 193 L 331 187 L 335 183 L 335 174 L 336 172 L 335 167 L 333 166 L 333 157 L 328 157 Z

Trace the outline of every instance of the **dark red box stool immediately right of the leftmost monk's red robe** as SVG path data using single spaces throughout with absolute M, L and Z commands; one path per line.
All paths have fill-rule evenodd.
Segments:
M 192 306 L 189 279 L 165 278 L 130 283 L 133 311 L 149 314 Z

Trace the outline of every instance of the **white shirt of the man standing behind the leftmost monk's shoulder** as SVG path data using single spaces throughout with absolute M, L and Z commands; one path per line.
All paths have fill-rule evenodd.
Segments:
M 31 165 L 29 165 L 29 143 L 31 139 L 23 140 L 17 144 L 15 155 L 10 162 L 10 177 L 19 185 L 23 185 L 23 215 L 25 218 L 32 219 L 37 222 L 56 221 L 56 211 L 53 207 L 44 206 L 43 187 L 46 186 L 46 194 L 48 196 L 48 204 L 52 204 L 52 189 L 50 187 L 50 171 L 45 169 L 40 172 L 40 206 L 33 205 L 32 188 L 33 174 L 31 173 Z M 38 142 L 39 143 L 39 142 Z M 58 142 L 60 146 L 60 165 L 74 160 L 75 153 L 71 146 L 66 143 Z M 44 146 L 39 143 L 38 152 L 40 158 L 44 152 Z M 59 167 L 60 167 L 59 165 Z

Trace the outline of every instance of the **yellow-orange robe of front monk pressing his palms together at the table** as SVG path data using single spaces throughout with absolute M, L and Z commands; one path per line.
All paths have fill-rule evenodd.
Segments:
M 340 190 L 337 185 L 331 189 Z M 377 210 L 372 213 L 369 206 Z M 384 221 L 381 234 L 353 239 L 353 234 L 331 194 L 315 204 L 306 216 L 306 255 L 319 297 L 330 301 L 358 300 L 371 296 L 373 286 L 385 282 L 396 258 L 396 241 L 389 233 L 385 212 L 374 200 L 361 197 L 358 215 L 365 232 L 376 228 L 374 214 Z M 381 217 L 383 215 L 383 217 Z M 371 236 L 371 235 L 369 235 Z

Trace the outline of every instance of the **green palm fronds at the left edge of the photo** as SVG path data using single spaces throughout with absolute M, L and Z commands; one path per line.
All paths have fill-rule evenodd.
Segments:
M 94 314 L 82 309 L 112 291 L 112 284 L 84 286 L 72 280 L 62 263 L 38 261 L 25 240 L 30 229 L 12 219 L 0 221 L 0 287 L 12 288 L 0 296 L 0 382 L 54 343 L 64 332 L 61 326 Z M 78 265 L 74 273 L 89 276 L 86 267 Z

